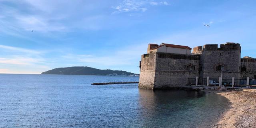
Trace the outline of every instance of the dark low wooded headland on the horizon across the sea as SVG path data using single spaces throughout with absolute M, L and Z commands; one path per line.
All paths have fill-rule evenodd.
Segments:
M 58 74 L 58 75 L 103 75 L 103 76 L 139 76 L 139 74 L 126 72 L 122 70 L 100 70 L 97 68 L 91 68 L 87 66 L 76 66 L 66 68 L 55 68 L 42 72 L 41 74 Z

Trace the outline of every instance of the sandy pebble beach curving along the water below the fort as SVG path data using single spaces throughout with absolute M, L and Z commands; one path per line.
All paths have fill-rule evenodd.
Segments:
M 217 91 L 230 100 L 230 109 L 222 114 L 214 128 L 256 128 L 256 93 Z

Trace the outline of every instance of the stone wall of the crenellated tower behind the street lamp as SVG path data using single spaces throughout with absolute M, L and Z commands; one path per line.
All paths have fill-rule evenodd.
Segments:
M 201 78 L 207 76 L 218 78 L 221 71 L 216 71 L 217 66 L 223 66 L 223 78 L 240 78 L 240 50 L 205 50 L 202 51 L 200 63 L 202 64 Z

